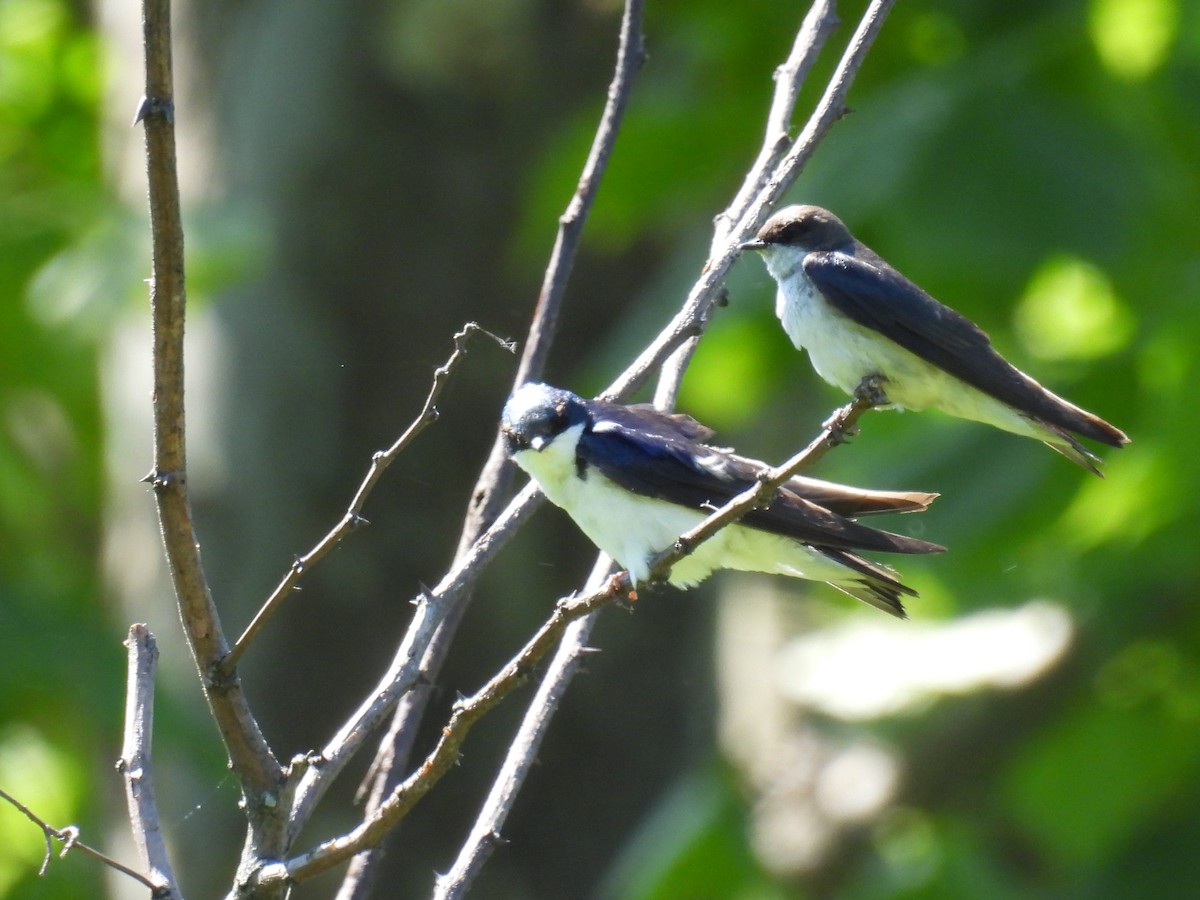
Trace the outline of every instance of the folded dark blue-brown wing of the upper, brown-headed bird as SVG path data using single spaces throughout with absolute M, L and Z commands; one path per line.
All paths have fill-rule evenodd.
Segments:
M 1055 397 L 1008 362 L 973 322 L 940 304 L 871 251 L 864 248 L 863 256 L 868 258 L 840 251 L 810 253 L 804 272 L 836 310 L 972 388 L 1104 444 L 1127 443 L 1120 430 Z

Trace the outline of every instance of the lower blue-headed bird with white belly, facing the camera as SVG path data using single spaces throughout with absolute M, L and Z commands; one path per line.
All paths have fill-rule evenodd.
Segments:
M 713 432 L 686 415 L 649 406 L 584 400 L 545 384 L 508 401 L 502 431 L 516 463 L 636 584 L 650 560 L 769 467 L 708 445 Z M 937 553 L 936 544 L 859 524 L 876 512 L 924 510 L 935 493 L 865 491 L 793 478 L 738 522 L 696 546 L 671 570 L 690 587 L 716 569 L 824 581 L 893 616 L 916 592 L 858 551 Z

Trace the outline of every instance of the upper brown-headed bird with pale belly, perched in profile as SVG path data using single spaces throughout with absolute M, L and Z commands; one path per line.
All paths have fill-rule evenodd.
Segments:
M 1110 446 L 1124 432 L 1051 394 L 1009 364 L 988 335 L 940 304 L 820 206 L 787 206 L 742 245 L 779 284 L 775 314 L 817 374 L 880 406 L 936 407 L 1037 438 L 1100 474 L 1076 434 Z

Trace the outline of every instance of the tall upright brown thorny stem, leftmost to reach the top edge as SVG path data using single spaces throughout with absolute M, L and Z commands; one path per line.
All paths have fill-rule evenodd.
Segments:
M 145 125 L 154 245 L 150 305 L 154 322 L 155 451 L 154 469 L 148 480 L 154 486 L 167 564 L 184 630 L 253 827 L 263 810 L 272 805 L 271 797 L 280 786 L 282 772 L 251 713 L 239 680 L 229 678 L 216 684 L 208 678 L 228 654 L 229 647 L 200 563 L 187 491 L 184 415 L 186 290 L 184 226 L 175 167 L 169 0 L 145 0 L 143 29 L 146 94 L 137 121 Z

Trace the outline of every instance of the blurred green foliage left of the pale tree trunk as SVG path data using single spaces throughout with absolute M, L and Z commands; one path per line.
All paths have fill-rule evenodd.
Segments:
M 0 781 L 52 824 L 92 834 L 95 775 L 110 764 L 121 709 L 121 652 L 96 566 L 96 349 L 28 290 L 106 215 L 102 86 L 78 7 L 0 4 Z M 0 834 L 0 895 L 100 892 L 103 874 L 82 859 L 37 880 L 42 835 L 7 805 Z

